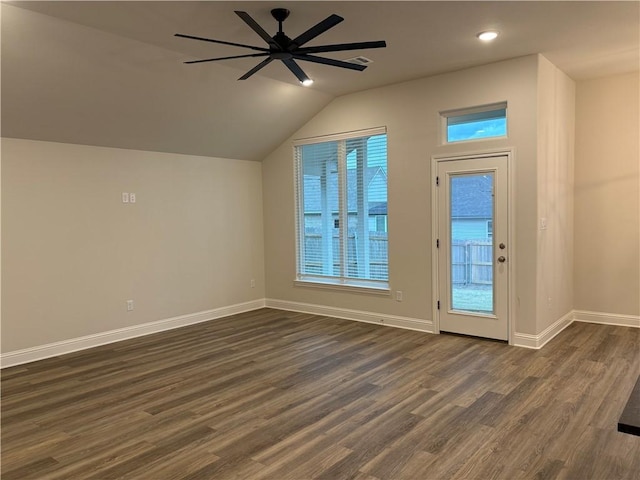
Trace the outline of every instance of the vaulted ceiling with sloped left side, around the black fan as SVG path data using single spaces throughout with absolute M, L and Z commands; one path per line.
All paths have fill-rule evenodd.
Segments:
M 251 51 L 174 37 L 264 46 L 234 10 L 270 34 L 275 7 L 295 37 L 332 13 L 345 21 L 308 45 L 385 40 L 364 72 L 301 62 L 184 65 Z M 637 71 L 640 2 L 3 2 L 2 134 L 9 137 L 261 160 L 333 98 L 542 53 L 575 80 Z M 500 31 L 491 44 L 475 34 Z

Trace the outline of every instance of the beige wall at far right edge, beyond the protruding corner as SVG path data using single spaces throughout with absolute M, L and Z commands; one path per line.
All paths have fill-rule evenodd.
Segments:
M 579 82 L 575 308 L 640 315 L 638 73 Z

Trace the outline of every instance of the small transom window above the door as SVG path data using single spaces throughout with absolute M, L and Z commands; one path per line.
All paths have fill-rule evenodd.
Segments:
M 507 136 L 507 104 L 452 110 L 440 114 L 445 143 Z

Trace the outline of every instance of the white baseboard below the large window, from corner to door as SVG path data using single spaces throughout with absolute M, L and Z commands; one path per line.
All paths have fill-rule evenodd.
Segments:
M 417 330 L 420 332 L 433 333 L 434 331 L 433 322 L 431 320 L 387 315 L 383 313 L 364 312 L 360 310 L 349 310 L 346 308 L 328 307 L 326 305 L 314 305 L 311 303 L 290 302 L 287 300 L 276 300 L 272 298 L 268 298 L 266 300 L 265 306 L 268 308 L 275 308 L 277 310 L 289 310 L 292 312 L 344 318 L 345 320 L 375 323 L 377 325 L 388 325 L 391 327 Z

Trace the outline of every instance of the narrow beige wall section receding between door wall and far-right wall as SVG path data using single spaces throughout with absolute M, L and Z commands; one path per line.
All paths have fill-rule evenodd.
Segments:
M 539 59 L 536 310 L 542 332 L 573 310 L 575 82 Z

